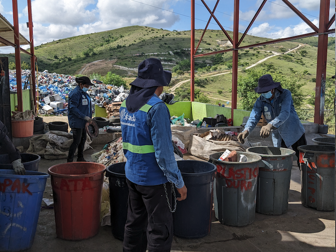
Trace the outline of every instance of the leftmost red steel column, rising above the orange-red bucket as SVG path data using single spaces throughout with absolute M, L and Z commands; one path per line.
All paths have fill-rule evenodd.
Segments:
M 22 81 L 21 81 L 21 57 L 20 57 L 20 38 L 19 38 L 19 14 L 17 0 L 13 3 L 13 24 L 14 24 L 14 43 L 15 47 L 15 67 L 16 67 L 16 84 L 17 84 L 17 107 L 18 111 L 23 111 L 22 101 Z

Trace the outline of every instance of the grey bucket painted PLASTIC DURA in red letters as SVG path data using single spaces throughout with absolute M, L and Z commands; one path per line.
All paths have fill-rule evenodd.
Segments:
M 254 221 L 257 177 L 261 157 L 237 151 L 247 162 L 225 162 L 218 158 L 223 152 L 210 155 L 209 162 L 217 167 L 214 208 L 219 222 L 229 226 L 246 226 Z

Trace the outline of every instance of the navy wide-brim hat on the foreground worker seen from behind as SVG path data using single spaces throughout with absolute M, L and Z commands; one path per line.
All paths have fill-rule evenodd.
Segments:
M 167 86 L 171 80 L 171 72 L 164 70 L 159 59 L 149 58 L 138 66 L 138 77 L 130 85 L 149 88 Z

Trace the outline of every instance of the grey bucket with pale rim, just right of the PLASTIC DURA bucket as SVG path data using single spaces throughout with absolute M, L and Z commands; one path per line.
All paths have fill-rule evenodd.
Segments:
M 259 166 L 255 211 L 269 215 L 287 212 L 295 152 L 267 146 L 250 147 L 246 152 L 259 155 L 264 163 Z

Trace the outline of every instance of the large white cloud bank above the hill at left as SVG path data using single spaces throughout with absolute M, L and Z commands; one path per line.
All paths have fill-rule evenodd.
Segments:
M 1 1 L 1 0 L 0 0 Z M 139 3 L 137 1 L 143 1 Z M 179 16 L 165 11 L 171 0 L 45 0 L 32 1 L 35 45 L 121 27 L 141 25 L 171 27 Z M 175 0 L 174 0 L 175 1 Z M 90 4 L 95 7 L 87 10 Z M 156 7 L 153 7 L 153 6 Z M 92 6 L 92 5 L 91 5 Z M 22 13 L 27 16 L 27 6 Z M 29 38 L 28 29 L 20 32 Z

